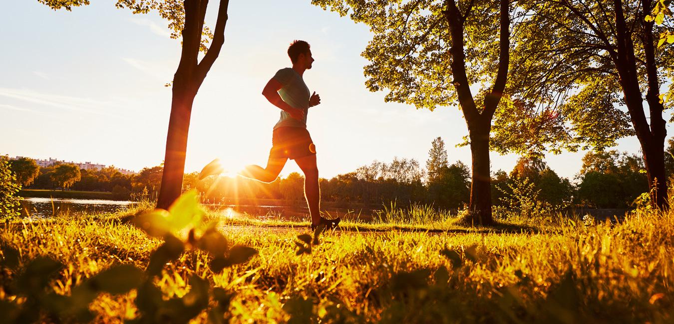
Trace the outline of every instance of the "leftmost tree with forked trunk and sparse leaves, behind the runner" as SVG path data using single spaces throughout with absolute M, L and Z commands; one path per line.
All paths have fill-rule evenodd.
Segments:
M 88 0 L 38 0 L 53 9 L 88 5 Z M 192 104 L 206 73 L 210 70 L 220 54 L 224 44 L 224 27 L 227 23 L 227 7 L 229 0 L 220 0 L 213 40 L 208 48 L 202 35 L 209 36 L 210 31 L 204 26 L 208 0 L 117 0 L 117 7 L 128 7 L 133 13 L 148 13 L 156 9 L 162 18 L 168 19 L 177 38 L 182 36 L 183 48 L 178 69 L 173 76 L 173 98 L 171 100 L 171 116 L 168 119 L 168 135 L 166 135 L 166 155 L 164 158 L 164 174 L 159 193 L 157 207 L 168 208 L 181 193 L 183 172 L 185 172 L 185 156 L 187 154 L 187 133 L 191 118 Z M 199 61 L 200 51 L 206 55 Z

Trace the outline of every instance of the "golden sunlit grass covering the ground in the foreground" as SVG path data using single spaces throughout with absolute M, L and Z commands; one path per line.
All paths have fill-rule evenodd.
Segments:
M 0 238 L 20 251 L 21 262 L 16 269 L 1 267 L 0 313 L 2 303 L 25 302 L 12 293 L 12 283 L 37 257 L 65 265 L 48 283 L 61 295 L 113 265 L 147 267 L 162 240 L 119 219 L 150 207 L 5 225 Z M 323 234 L 311 254 L 300 255 L 297 234 L 307 222 L 208 214 L 222 225 L 257 226 L 224 235 L 231 245 L 247 245 L 258 254 L 214 273 L 208 253 L 191 249 L 168 263 L 154 284 L 166 300 L 189 296 L 197 284 L 192 276 L 204 278 L 212 290 L 234 294 L 226 309 L 233 323 L 674 321 L 674 212 L 641 211 L 619 224 L 575 226 L 511 218 L 478 229 L 453 224 L 456 218 L 432 209 L 410 212 L 391 208 L 370 225 L 344 221 L 345 231 Z M 270 225 L 296 230 L 269 230 Z M 137 290 L 98 295 L 89 306 L 94 322 L 136 319 L 136 295 Z M 214 299 L 209 303 L 217 307 Z M 191 323 L 207 317 L 202 311 Z

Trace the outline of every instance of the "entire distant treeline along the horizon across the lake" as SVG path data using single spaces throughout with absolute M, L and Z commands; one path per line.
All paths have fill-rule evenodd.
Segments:
M 443 209 L 462 207 L 470 197 L 470 169 L 457 161 L 448 163 L 440 137 L 433 141 L 425 168 L 415 159 L 374 161 L 353 172 L 320 179 L 321 201 L 398 205 L 421 203 Z M 674 172 L 674 141 L 665 153 L 669 174 Z M 31 163 L 32 162 L 32 163 Z M 71 164 L 38 167 L 33 160 L 12 160 L 17 180 L 28 189 L 71 189 L 112 192 L 115 199 L 156 199 L 162 166 L 125 175 L 113 166 L 80 170 Z M 210 176 L 198 180 L 198 172 L 185 174 L 183 191 L 196 189 L 205 203 L 236 203 L 236 199 L 304 199 L 304 177 L 297 172 L 272 183 L 259 183 L 241 176 Z M 495 206 L 524 208 L 571 207 L 627 208 L 644 202 L 648 179 L 640 156 L 617 152 L 588 152 L 573 181 L 557 175 L 540 158 L 522 157 L 510 172 L 492 174 Z

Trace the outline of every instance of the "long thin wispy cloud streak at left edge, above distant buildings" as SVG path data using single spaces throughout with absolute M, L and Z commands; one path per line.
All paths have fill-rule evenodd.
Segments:
M 0 96 L 24 100 L 36 104 L 43 104 L 46 106 L 64 108 L 68 110 L 88 112 L 97 115 L 113 116 L 113 114 L 111 114 L 111 110 L 113 110 L 114 108 L 112 104 L 110 104 L 109 102 L 102 102 L 90 98 L 59 96 L 55 94 L 41 94 L 39 92 L 34 92 L 28 89 L 9 89 L 9 88 L 0 88 Z M 24 108 L 17 108 L 15 106 L 8 106 L 8 105 L 3 106 L 7 106 L 7 108 L 13 108 L 16 110 L 24 110 Z

